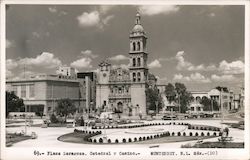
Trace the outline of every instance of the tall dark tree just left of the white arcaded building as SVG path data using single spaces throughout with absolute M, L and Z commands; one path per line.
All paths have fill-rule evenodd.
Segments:
M 178 96 L 177 102 L 180 103 L 180 112 L 185 113 L 191 102 L 192 95 L 187 91 L 187 88 L 183 83 L 175 83 L 175 91 Z

